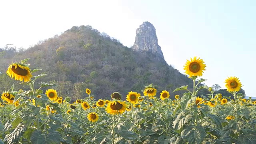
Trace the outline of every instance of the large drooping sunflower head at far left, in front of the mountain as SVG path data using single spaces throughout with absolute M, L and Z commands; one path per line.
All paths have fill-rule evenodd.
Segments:
M 30 68 L 20 62 L 10 64 L 6 73 L 8 76 L 14 77 L 15 80 L 24 80 L 24 82 L 29 82 L 32 77 Z

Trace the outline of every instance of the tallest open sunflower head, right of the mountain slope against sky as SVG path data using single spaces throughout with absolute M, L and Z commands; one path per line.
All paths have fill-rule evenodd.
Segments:
M 190 58 L 191 61 L 187 60 L 184 70 L 185 73 L 191 76 L 202 76 L 203 75 L 203 70 L 206 70 L 205 67 L 206 65 L 204 64 L 204 60 L 198 58 L 196 59 L 196 56 L 192 59 Z

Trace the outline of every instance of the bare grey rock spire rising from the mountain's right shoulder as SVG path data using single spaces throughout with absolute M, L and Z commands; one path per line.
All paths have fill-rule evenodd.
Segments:
M 158 60 L 164 60 L 161 47 L 158 45 L 156 29 L 150 22 L 143 22 L 136 30 L 136 38 L 132 49 L 140 52 L 151 52 Z

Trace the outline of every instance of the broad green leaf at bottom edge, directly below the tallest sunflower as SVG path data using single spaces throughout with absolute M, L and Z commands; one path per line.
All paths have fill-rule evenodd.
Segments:
M 189 144 L 201 144 L 206 136 L 206 132 L 202 126 L 188 126 L 181 132 L 181 137 Z

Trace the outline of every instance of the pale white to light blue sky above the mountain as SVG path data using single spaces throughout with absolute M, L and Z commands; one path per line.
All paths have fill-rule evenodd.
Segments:
M 132 46 L 145 21 L 156 28 L 169 65 L 184 74 L 187 59 L 206 64 L 205 84 L 237 76 L 256 97 L 256 1 L 254 0 L 5 0 L 0 1 L 0 48 L 29 48 L 72 28 L 91 25 Z

